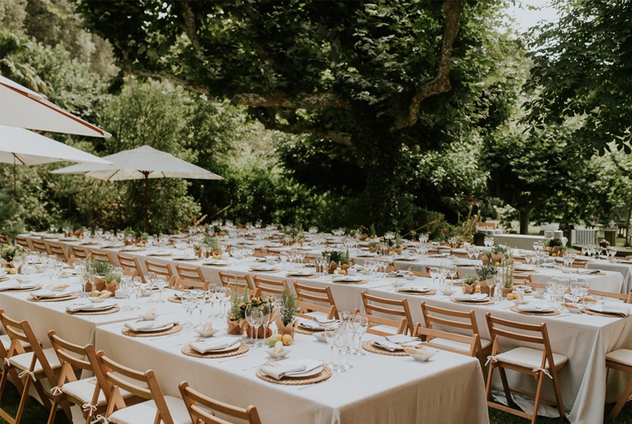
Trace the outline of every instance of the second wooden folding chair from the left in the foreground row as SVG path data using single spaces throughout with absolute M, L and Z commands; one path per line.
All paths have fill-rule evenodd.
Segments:
M 110 399 L 110 387 L 96 360 L 96 351 L 93 345 L 79 346 L 60 338 L 55 330 L 48 331 L 48 338 L 62 366 L 58 385 L 51 389 L 53 406 L 48 424 L 54 422 L 57 405 L 62 400 L 79 406 L 86 418 L 86 424 L 90 424 L 97 414 L 105 413 L 107 400 Z M 95 376 L 78 380 L 77 374 L 81 371 L 94 373 Z M 126 402 L 133 402 L 131 393 L 123 392 L 123 395 Z

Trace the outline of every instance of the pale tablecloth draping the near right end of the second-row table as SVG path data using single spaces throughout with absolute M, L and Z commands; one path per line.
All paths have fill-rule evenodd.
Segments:
M 420 279 L 419 284 L 431 284 L 431 280 Z M 396 293 L 394 289 L 388 288 L 371 289 L 370 292 L 385 298 L 408 298 L 415 322 L 423 322 L 419 306 L 422 301 L 452 310 L 474 310 L 481 336 L 488 340 L 489 331 L 485 322 L 487 312 L 519 322 L 546 322 L 553 352 L 569 358 L 569 364 L 558 376 L 564 406 L 569 411 L 571 423 L 600 423 L 603 420 L 605 402 L 616 402 L 629 380 L 629 376 L 624 373 L 610 371 L 606 381 L 605 354 L 620 348 L 632 349 L 632 316 L 607 318 L 566 313 L 556 317 L 535 317 L 508 310 L 513 305 L 508 300 L 495 305 L 477 306 L 454 303 L 441 293 L 434 296 L 414 296 Z M 506 349 L 515 345 L 503 342 L 501 347 Z M 508 371 L 508 378 L 513 387 L 528 387 L 533 391 L 535 389 L 533 378 L 518 376 L 512 371 Z M 495 382 L 495 387 L 501 387 L 499 381 Z M 545 383 L 544 390 L 546 396 L 554 398 L 551 385 Z

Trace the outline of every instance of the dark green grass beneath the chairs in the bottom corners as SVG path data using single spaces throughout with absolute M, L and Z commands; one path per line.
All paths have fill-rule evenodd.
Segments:
M 11 415 L 15 414 L 15 409 L 18 408 L 18 402 L 20 397 L 18 392 L 15 390 L 13 385 L 7 385 L 6 393 L 2 399 L 2 406 L 11 413 Z M 614 404 L 606 405 L 605 409 L 605 418 L 607 418 L 610 410 Z M 22 416 L 22 423 L 25 424 L 35 424 L 35 423 L 46 423 L 48 419 L 48 411 L 44 409 L 39 403 L 33 401 L 27 406 L 25 413 Z M 489 409 L 489 422 L 492 424 L 525 424 L 528 421 L 522 418 L 518 418 L 509 413 L 504 413 L 501 411 L 497 411 L 496 409 Z M 561 421 L 559 418 L 538 418 L 538 423 L 541 424 L 559 424 Z M 0 418 L 0 423 L 5 424 L 6 421 Z M 612 421 L 612 423 L 616 424 L 632 424 L 632 402 L 628 402 L 628 404 L 624 407 L 623 411 L 619 414 L 619 418 L 617 420 Z M 68 424 L 68 420 L 62 411 L 58 411 L 55 416 L 55 424 Z

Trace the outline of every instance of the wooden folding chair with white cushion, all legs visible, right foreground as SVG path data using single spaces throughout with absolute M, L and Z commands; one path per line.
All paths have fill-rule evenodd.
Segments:
M 564 417 L 564 404 L 562 404 L 562 392 L 560 391 L 560 382 L 558 380 L 558 371 L 566 366 L 568 358 L 564 355 L 558 355 L 551 350 L 551 343 L 548 339 L 548 331 L 546 324 L 543 322 L 536 324 L 522 324 L 520 322 L 509 321 L 492 317 L 492 314 L 485 314 L 487 326 L 489 326 L 489 334 L 492 336 L 492 355 L 489 356 L 489 371 L 487 374 L 487 406 L 500 411 L 513 413 L 531 420 L 535 424 L 538 419 L 538 405 L 541 400 L 551 404 L 557 404 L 560 416 Z M 520 332 L 517 332 L 520 331 Z M 531 343 L 532 345 L 541 345 L 542 349 L 534 349 L 533 347 L 515 347 L 506 352 L 501 352 L 500 338 L 510 339 L 512 343 Z M 498 369 L 503 383 L 503 390 L 507 398 L 508 406 L 493 402 L 492 395 L 492 373 L 494 369 Z M 506 369 L 518 371 L 520 373 L 533 376 L 537 380 L 537 389 L 535 394 L 509 387 Z M 553 383 L 555 399 L 549 399 L 542 395 L 542 384 L 550 378 Z M 511 393 L 517 393 L 521 396 L 532 397 L 534 399 L 533 413 L 529 414 L 520 409 L 513 408 L 513 399 Z

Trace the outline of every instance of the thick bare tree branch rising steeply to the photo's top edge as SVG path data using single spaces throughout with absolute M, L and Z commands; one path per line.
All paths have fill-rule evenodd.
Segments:
M 407 113 L 395 121 L 395 124 L 390 127 L 390 131 L 413 126 L 417 121 L 419 107 L 424 99 L 440 93 L 447 93 L 452 88 L 449 79 L 450 62 L 452 62 L 452 46 L 454 45 L 456 34 L 459 32 L 459 18 L 461 18 L 461 11 L 463 11 L 463 0 L 445 0 L 442 8 L 445 13 L 445 29 L 437 75 L 428 84 L 417 88 L 410 101 Z

